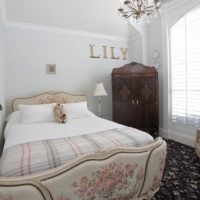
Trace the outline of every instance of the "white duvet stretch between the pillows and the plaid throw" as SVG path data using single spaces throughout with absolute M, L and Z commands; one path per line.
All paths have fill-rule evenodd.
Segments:
M 8 121 L 4 132 L 4 150 L 11 146 L 27 142 L 78 136 L 121 127 L 123 125 L 94 115 L 73 119 L 66 124 L 49 122 L 23 125 L 20 122 Z M 134 130 L 135 132 L 139 131 L 137 129 Z

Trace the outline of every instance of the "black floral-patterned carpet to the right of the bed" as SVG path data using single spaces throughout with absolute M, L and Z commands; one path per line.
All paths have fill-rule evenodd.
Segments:
M 166 167 L 153 200 L 200 200 L 200 159 L 195 149 L 167 140 Z

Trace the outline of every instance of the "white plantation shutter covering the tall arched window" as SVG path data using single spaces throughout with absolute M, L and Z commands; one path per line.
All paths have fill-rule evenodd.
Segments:
M 171 121 L 200 126 L 200 9 L 171 28 Z

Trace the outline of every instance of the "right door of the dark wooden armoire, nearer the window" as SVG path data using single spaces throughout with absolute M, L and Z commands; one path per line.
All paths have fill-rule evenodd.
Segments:
M 136 127 L 140 130 L 155 130 L 157 127 L 156 77 L 144 76 L 135 79 Z

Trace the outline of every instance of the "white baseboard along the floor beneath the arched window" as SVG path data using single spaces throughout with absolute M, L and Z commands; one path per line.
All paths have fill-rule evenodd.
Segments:
M 195 147 L 195 139 L 196 139 L 195 134 L 188 134 L 185 132 L 178 132 L 174 130 L 160 128 L 160 135 L 163 138 L 171 139 L 176 142 L 186 144 L 191 147 Z

